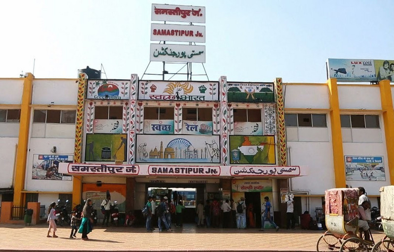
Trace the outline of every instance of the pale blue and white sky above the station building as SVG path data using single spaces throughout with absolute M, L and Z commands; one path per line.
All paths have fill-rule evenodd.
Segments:
M 197 45 L 207 76 L 193 80 L 323 83 L 328 58 L 394 60 L 392 0 L 12 0 L 0 8 L 0 78 L 33 65 L 35 78 L 76 78 L 101 64 L 108 79 L 161 73 L 163 63 L 149 62 L 151 23 L 163 23 L 151 21 L 152 3 L 205 6 Z M 193 74 L 203 67 L 193 63 Z

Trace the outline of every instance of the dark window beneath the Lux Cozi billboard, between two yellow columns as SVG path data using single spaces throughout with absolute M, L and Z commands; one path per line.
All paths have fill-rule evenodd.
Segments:
M 380 128 L 378 115 L 341 115 L 343 128 Z

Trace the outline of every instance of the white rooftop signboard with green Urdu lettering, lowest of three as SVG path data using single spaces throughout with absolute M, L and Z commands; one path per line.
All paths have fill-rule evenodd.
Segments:
M 150 61 L 205 63 L 205 46 L 151 44 Z

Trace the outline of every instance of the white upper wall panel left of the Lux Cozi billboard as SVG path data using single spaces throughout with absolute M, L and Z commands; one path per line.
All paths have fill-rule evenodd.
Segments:
M 286 85 L 285 108 L 329 108 L 328 87 L 321 85 Z

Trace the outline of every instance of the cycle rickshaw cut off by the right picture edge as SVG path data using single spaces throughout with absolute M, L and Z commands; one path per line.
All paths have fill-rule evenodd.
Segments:
M 394 186 L 380 188 L 380 217 L 386 236 L 377 242 L 372 252 L 394 252 Z

